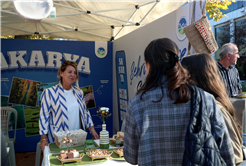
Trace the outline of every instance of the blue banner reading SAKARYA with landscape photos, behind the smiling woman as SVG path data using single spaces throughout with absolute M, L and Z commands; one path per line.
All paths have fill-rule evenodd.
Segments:
M 79 86 L 84 91 L 87 108 L 99 135 L 102 120 L 96 112 L 97 108 L 108 107 L 112 111 L 112 44 L 0 39 L 0 105 L 16 107 L 18 112 L 16 152 L 36 150 L 36 144 L 40 141 L 40 94 L 57 83 L 58 69 L 65 60 L 78 64 Z M 113 116 L 107 119 L 106 124 L 112 137 Z M 11 117 L 9 129 L 13 126 Z M 90 133 L 87 139 L 91 139 Z

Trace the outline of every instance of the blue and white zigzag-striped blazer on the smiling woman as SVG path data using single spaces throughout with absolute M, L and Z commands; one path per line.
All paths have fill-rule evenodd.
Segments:
M 94 126 L 90 112 L 86 108 L 84 93 L 76 86 L 72 86 L 73 94 L 79 104 L 81 126 L 84 130 Z M 53 132 L 68 131 L 68 111 L 64 89 L 59 83 L 45 89 L 41 95 L 41 108 L 39 114 L 39 134 L 48 134 L 48 142 L 54 142 Z

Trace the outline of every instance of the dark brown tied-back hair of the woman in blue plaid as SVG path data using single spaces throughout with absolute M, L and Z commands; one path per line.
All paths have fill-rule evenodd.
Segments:
M 179 62 L 179 48 L 168 38 L 161 38 L 153 40 L 149 43 L 144 51 L 145 62 L 149 63 L 150 71 L 142 87 L 137 91 L 141 92 L 142 96 L 152 88 L 161 87 L 162 96 L 160 100 L 153 102 L 160 102 L 163 98 L 163 75 L 166 75 L 168 81 L 169 97 L 175 100 L 174 104 L 186 103 L 191 99 L 191 86 L 188 83 L 188 72 L 182 67 Z M 178 92 L 178 97 L 174 99 L 173 92 Z

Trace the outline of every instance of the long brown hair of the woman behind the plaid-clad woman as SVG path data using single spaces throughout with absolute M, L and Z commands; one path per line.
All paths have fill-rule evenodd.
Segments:
M 235 109 L 227 96 L 226 88 L 219 75 L 218 65 L 213 57 L 208 54 L 194 54 L 183 58 L 181 64 L 190 73 L 190 83 L 212 94 L 235 120 Z M 239 123 L 237 127 L 239 131 L 242 131 Z

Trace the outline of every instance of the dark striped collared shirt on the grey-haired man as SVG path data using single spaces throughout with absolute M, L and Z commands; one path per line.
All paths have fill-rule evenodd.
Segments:
M 229 66 L 229 68 L 226 69 L 219 62 L 218 62 L 218 67 L 219 67 L 220 76 L 221 76 L 222 81 L 224 82 L 228 97 L 233 97 L 237 95 L 239 93 L 239 90 L 242 89 L 238 70 L 233 66 Z

